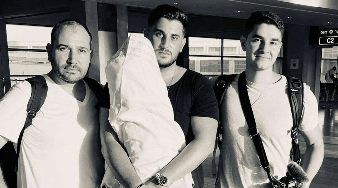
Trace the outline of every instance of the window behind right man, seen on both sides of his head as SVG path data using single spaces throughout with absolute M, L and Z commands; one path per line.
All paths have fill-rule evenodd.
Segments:
M 273 65 L 277 73 L 282 71 L 283 46 Z M 235 74 L 245 70 L 246 54 L 239 40 L 189 37 L 189 69 L 207 77 Z

